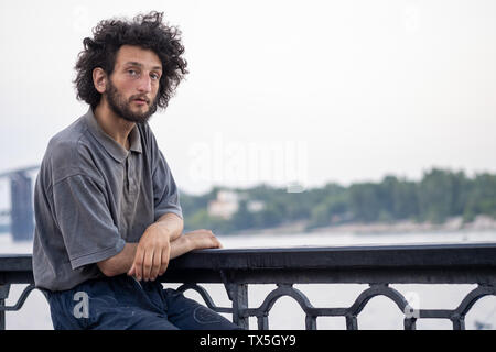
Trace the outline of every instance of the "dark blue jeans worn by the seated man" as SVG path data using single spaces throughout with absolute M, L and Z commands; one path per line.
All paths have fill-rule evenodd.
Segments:
M 55 330 L 234 330 L 219 314 L 158 282 L 126 274 L 90 279 L 63 292 L 43 290 Z

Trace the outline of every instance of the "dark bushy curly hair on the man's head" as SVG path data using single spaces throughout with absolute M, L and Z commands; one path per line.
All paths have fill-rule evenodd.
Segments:
M 101 67 L 108 76 L 114 72 L 120 46 L 136 45 L 153 51 L 162 62 L 162 76 L 157 96 L 158 106 L 165 109 L 175 88 L 188 73 L 187 62 L 181 57 L 184 46 L 177 28 L 162 23 L 163 12 L 138 14 L 132 22 L 119 19 L 100 21 L 93 29 L 94 37 L 83 40 L 84 51 L 78 54 L 77 76 L 74 84 L 77 99 L 95 108 L 101 98 L 93 82 L 93 70 Z

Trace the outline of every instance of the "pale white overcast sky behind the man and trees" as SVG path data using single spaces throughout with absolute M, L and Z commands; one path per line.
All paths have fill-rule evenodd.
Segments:
M 180 188 L 496 172 L 496 1 L 0 2 L 0 173 L 86 112 L 98 21 L 159 10 L 191 74 L 151 119 Z

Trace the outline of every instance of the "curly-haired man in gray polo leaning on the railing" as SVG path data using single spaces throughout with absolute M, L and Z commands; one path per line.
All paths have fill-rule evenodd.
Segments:
M 76 63 L 87 112 L 48 143 L 35 186 L 33 271 L 55 329 L 235 329 L 157 282 L 169 261 L 220 248 L 182 234 L 177 187 L 147 121 L 187 73 L 162 13 L 101 21 Z

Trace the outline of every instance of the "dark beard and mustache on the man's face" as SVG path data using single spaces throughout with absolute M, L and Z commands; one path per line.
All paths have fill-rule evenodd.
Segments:
M 114 86 L 112 81 L 108 80 L 108 89 L 106 91 L 106 97 L 110 109 L 118 117 L 136 123 L 145 123 L 150 119 L 150 117 L 157 111 L 159 95 L 157 95 L 155 99 L 151 103 L 149 103 L 149 108 L 147 111 L 132 111 L 131 103 L 133 99 L 137 99 L 138 96 L 133 96 L 129 98 L 129 101 L 126 101 L 126 98 L 119 92 L 119 90 Z

